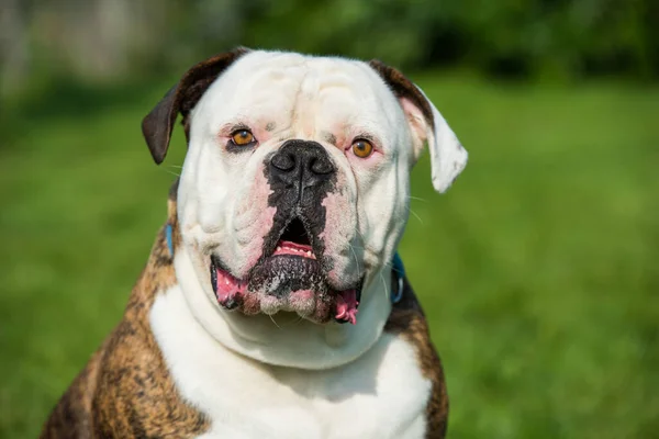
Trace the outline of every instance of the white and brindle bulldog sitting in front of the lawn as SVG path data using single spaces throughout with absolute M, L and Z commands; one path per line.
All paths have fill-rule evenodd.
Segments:
M 123 319 L 42 438 L 443 438 L 444 372 L 396 247 L 410 171 L 467 151 L 379 60 L 236 48 L 144 119 L 188 151 Z

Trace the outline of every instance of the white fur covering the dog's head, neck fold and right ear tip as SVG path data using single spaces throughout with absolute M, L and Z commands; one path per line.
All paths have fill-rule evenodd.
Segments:
M 380 337 L 389 304 L 381 288 L 407 219 L 410 169 L 418 139 L 427 142 L 433 180 L 445 190 L 466 161 L 466 151 L 433 106 L 435 130 L 416 133 L 403 106 L 378 74 L 361 61 L 291 53 L 252 52 L 210 86 L 191 113 L 190 144 L 178 191 L 185 262 L 177 273 L 188 303 L 206 331 L 259 361 L 309 369 L 353 361 Z M 227 130 L 247 125 L 258 139 L 249 153 L 225 150 Z M 423 125 L 423 121 L 422 121 Z M 427 125 L 427 124 L 426 124 Z M 270 130 L 267 127 L 270 126 Z M 326 140 L 332 134 L 336 145 Z M 368 134 L 379 153 L 367 160 L 350 154 Z M 330 281 L 348 289 L 366 277 L 357 326 L 317 326 L 306 320 L 273 331 L 267 316 L 226 313 L 210 284 L 209 255 L 238 278 L 260 257 L 271 227 L 264 160 L 291 138 L 323 145 L 338 168 L 340 191 L 327 196 L 325 257 Z M 182 273 L 186 272 L 183 275 Z M 286 333 L 287 337 L 281 337 Z M 334 340 L 327 350 L 326 340 Z M 340 341 L 344 340 L 344 341 Z M 301 354 L 303 347 L 306 354 Z

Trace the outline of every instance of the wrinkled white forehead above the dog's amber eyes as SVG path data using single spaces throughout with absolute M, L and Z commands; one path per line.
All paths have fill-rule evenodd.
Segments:
M 198 105 L 217 122 L 246 119 L 306 135 L 348 125 L 382 130 L 402 114 L 396 108 L 393 94 L 365 63 L 264 52 L 238 59 Z

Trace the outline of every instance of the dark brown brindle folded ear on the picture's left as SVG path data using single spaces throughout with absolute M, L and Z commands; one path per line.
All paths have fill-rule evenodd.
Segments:
M 238 47 L 193 66 L 144 117 L 142 134 L 156 164 L 161 164 L 167 155 L 169 138 L 178 114 L 180 113 L 183 116 L 187 137 L 189 132 L 188 113 L 197 105 L 201 95 L 217 76 L 248 52 L 248 48 Z

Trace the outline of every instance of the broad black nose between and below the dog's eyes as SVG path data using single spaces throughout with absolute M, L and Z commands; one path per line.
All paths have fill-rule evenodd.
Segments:
M 288 140 L 270 159 L 270 176 L 300 191 L 327 181 L 335 172 L 327 151 L 316 142 Z

